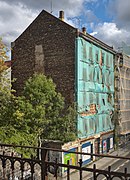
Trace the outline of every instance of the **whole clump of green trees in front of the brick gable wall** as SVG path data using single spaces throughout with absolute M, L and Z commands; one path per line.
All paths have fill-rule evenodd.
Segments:
M 75 111 L 64 113 L 64 98 L 56 92 L 52 79 L 34 74 L 22 96 L 10 96 L 0 114 L 1 142 L 37 146 L 38 139 L 75 139 Z

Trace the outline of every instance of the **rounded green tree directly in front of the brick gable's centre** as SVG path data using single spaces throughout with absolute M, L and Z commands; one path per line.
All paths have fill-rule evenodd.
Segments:
M 64 98 L 56 92 L 56 85 L 51 78 L 35 74 L 26 82 L 23 98 L 31 107 L 24 112 L 25 119 L 30 120 L 31 132 L 37 132 L 37 136 L 43 139 L 63 142 L 75 139 L 74 108 L 65 110 Z

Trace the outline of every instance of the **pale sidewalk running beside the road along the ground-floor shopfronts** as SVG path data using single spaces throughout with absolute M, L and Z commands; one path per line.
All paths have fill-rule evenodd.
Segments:
M 113 151 L 112 153 L 110 153 L 109 155 L 112 156 L 126 156 L 130 151 L 128 149 L 118 149 L 118 151 Z M 115 162 L 119 161 L 119 159 L 114 159 L 114 158 L 108 158 L 108 157 L 104 157 L 101 158 L 99 160 L 96 160 L 94 162 L 92 162 L 91 164 L 87 165 L 87 168 L 93 168 L 93 165 L 96 164 L 96 168 L 97 169 L 106 169 L 106 167 L 111 166 L 112 164 L 114 164 Z M 84 180 L 90 180 L 92 177 L 92 173 L 91 172 L 87 172 L 87 171 L 83 171 L 82 172 L 82 177 Z M 62 178 L 62 180 L 65 180 L 66 178 Z M 70 179 L 71 180 L 78 180 L 79 179 L 79 172 L 74 172 L 70 175 Z

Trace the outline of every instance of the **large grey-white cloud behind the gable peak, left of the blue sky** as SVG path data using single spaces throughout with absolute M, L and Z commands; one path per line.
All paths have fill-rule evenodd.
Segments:
M 41 10 L 50 12 L 51 1 L 52 14 L 58 16 L 58 12 L 64 10 L 65 20 L 74 25 L 75 23 L 67 18 L 80 15 L 85 0 L 0 0 L 0 36 L 4 42 L 10 44 L 14 41 Z

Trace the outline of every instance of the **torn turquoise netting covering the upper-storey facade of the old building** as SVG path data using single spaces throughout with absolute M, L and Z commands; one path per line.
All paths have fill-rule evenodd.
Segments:
M 114 54 L 82 36 L 76 38 L 78 137 L 114 129 Z

